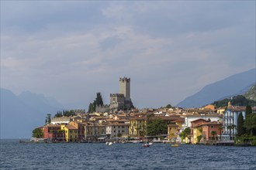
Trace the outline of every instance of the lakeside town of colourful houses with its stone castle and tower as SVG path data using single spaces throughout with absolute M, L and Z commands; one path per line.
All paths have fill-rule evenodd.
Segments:
M 85 110 L 63 110 L 33 130 L 35 142 L 164 142 L 172 144 L 256 145 L 256 107 L 213 104 L 200 108 L 137 109 L 130 78 L 119 78 L 119 93 L 103 104 L 101 93 Z M 244 123 L 247 122 L 247 123 Z M 246 126 L 246 124 L 251 124 Z M 249 128 L 248 128 L 249 127 Z

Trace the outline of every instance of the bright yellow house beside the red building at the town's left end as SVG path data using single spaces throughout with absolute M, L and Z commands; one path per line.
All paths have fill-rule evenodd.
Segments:
M 65 131 L 65 139 L 67 142 L 78 141 L 78 128 L 72 125 L 61 125 L 61 130 Z

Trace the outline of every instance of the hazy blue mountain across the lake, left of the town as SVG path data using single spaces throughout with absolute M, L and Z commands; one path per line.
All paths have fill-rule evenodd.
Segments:
M 19 96 L 1 88 L 1 138 L 30 138 L 45 122 L 47 114 L 63 110 L 57 100 L 29 91 Z

